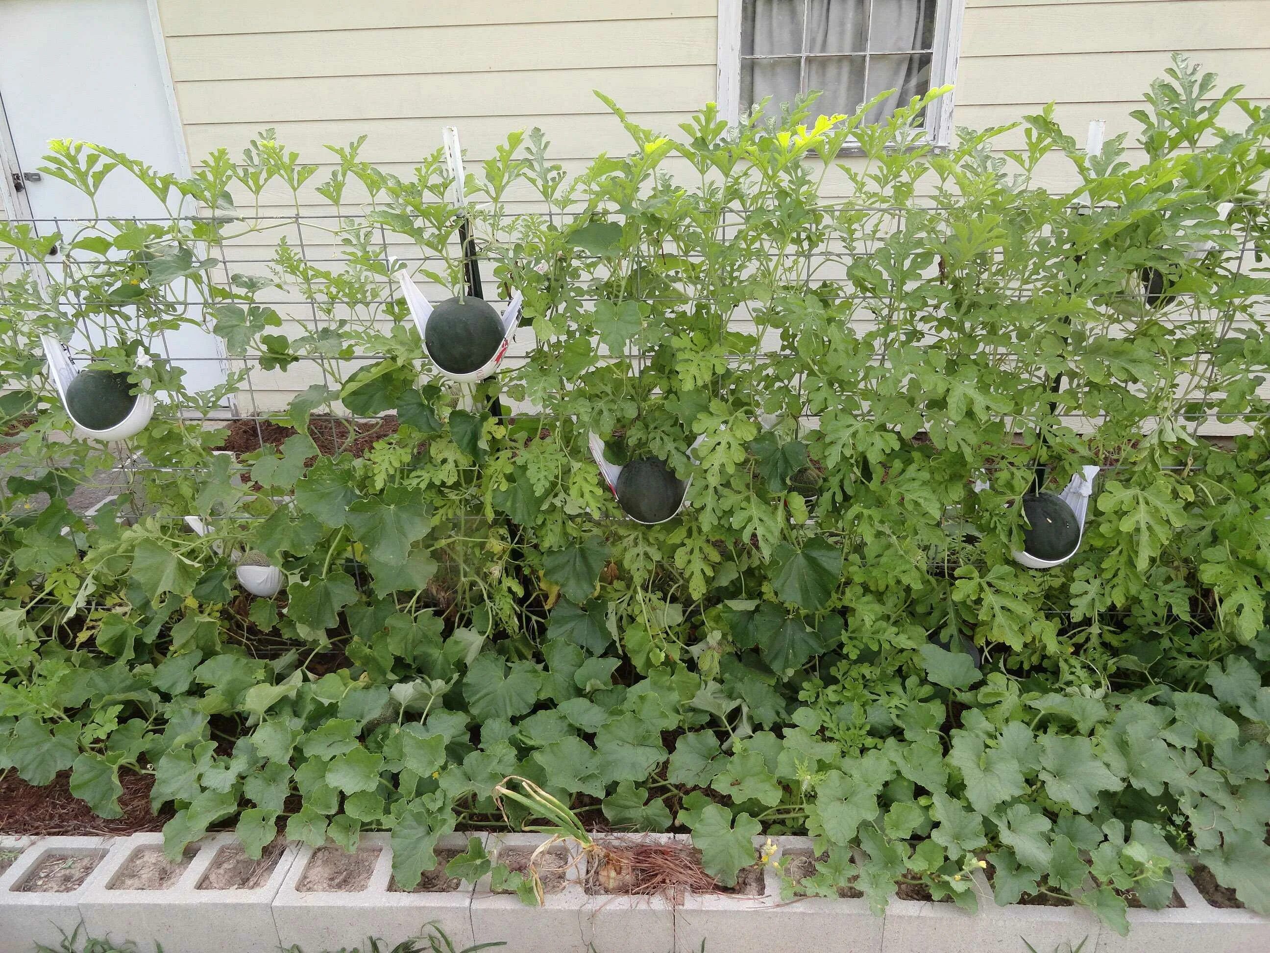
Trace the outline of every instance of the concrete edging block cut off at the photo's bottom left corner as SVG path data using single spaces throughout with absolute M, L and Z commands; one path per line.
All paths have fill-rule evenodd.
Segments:
M 110 850 L 107 837 L 41 837 L 0 875 L 0 953 L 57 947 L 80 926 L 80 900 Z M 56 889 L 32 889 L 61 881 Z

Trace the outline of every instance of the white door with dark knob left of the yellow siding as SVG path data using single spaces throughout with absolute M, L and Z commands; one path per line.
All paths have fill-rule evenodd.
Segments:
M 0 102 L 9 164 L 18 166 L 4 173 L 23 177 L 22 192 L 9 192 L 10 203 L 17 199 L 11 212 L 29 215 L 42 234 L 56 231 L 58 220 L 93 215 L 88 197 L 71 186 L 48 175 L 30 180 L 51 139 L 98 142 L 157 172 L 188 174 L 151 17 L 147 0 L 0 0 Z M 140 182 L 117 170 L 98 193 L 98 213 L 144 219 L 165 212 Z M 187 389 L 225 380 L 215 335 L 187 327 L 168 332 L 164 342 L 168 357 L 185 371 Z

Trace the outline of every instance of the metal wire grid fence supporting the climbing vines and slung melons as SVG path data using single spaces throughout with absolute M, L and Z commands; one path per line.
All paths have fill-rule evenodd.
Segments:
M 1247 205 L 1261 208 L 1266 206 L 1266 202 Z M 917 207 L 889 205 L 850 206 L 852 213 L 864 212 L 897 217 L 912 216 L 914 213 L 937 216 L 946 208 L 950 207 L 936 203 L 923 205 L 921 202 Z M 832 217 L 833 213 L 843 211 L 843 206 L 839 203 L 826 203 L 815 206 L 809 211 L 824 212 Z M 739 230 L 744 217 L 753 212 L 754 210 L 747 208 L 729 210 L 724 216 L 723 234 L 726 236 L 729 227 Z M 119 227 L 130 222 L 132 225 L 150 224 L 171 230 L 173 234 L 182 234 L 189 226 L 212 221 L 224 227 L 229 219 L 227 216 L 216 215 L 196 215 L 179 220 L 170 217 L 136 217 L 118 220 L 110 227 Z M 236 238 L 218 235 L 215 241 L 203 243 L 208 255 L 216 259 L 213 273 L 220 282 L 220 287 L 235 287 L 235 276 L 240 268 L 257 277 L 273 280 L 272 286 L 267 287 L 282 291 L 283 294 L 253 295 L 250 304 L 273 309 L 283 321 L 298 325 L 306 333 L 314 335 L 319 335 L 331 328 L 347 327 L 349 323 L 359 323 L 358 333 L 367 335 L 376 329 L 387 328 L 404 320 L 400 305 L 394 305 L 395 313 L 390 314 L 387 310 L 394 300 L 390 272 L 394 268 L 404 267 L 411 273 L 436 269 L 453 273 L 455 263 L 461 257 L 457 240 L 446 243 L 446 254 L 429 253 L 428 249 L 420 249 L 417 244 L 411 244 L 406 236 L 395 236 L 399 240 L 390 240 L 389 231 L 384 225 L 368 220 L 364 215 L 254 215 L 243 221 L 243 231 Z M 491 234 L 513 234 L 516 221 L 517 216 L 509 216 L 507 220 L 494 216 L 490 225 Z M 94 219 L 25 219 L 11 221 L 10 225 L 29 226 L 36 233 L 46 236 L 65 236 L 77 227 L 98 227 L 100 222 Z M 886 348 L 893 343 L 885 335 L 902 329 L 899 325 L 904 323 L 904 315 L 908 316 L 908 323 L 903 327 L 903 330 L 909 334 L 909 344 L 930 347 L 939 344 L 941 341 L 946 342 L 949 332 L 932 327 L 935 321 L 931 320 L 931 316 L 939 313 L 937 297 L 931 296 L 928 299 L 928 313 L 916 315 L 912 313 L 913 309 L 911 306 L 897 302 L 897 294 L 894 292 L 861 294 L 851 286 L 847 269 L 855 262 L 875 257 L 876 248 L 869 247 L 869 243 L 885 238 L 889 234 L 880 225 L 874 230 L 861 229 L 861 231 L 864 234 L 857 239 L 859 244 L 856 245 L 842 243 L 841 247 L 829 245 L 814 250 L 787 253 L 785 255 L 787 260 L 782 262 L 786 272 L 782 290 L 791 295 L 814 292 L 817 300 L 827 308 L 837 304 L 850 306 L 847 323 L 851 327 L 861 333 L 880 332 L 883 335 L 878 342 L 878 351 L 872 356 L 874 363 L 879 367 L 885 363 L 888 358 Z M 358 300 L 349 300 L 347 290 L 338 286 L 338 277 L 344 273 L 340 271 L 340 267 L 343 266 L 347 271 L 347 266 L 349 264 L 347 249 L 342 252 L 339 239 L 342 235 L 351 233 L 377 235 L 373 245 L 363 243 L 363 248 L 373 247 L 373 263 L 380 271 L 367 271 L 367 263 L 361 263 L 362 271 L 359 274 L 364 281 L 358 286 Z M 304 282 L 296 282 L 295 278 L 291 278 L 288 287 L 279 287 L 283 276 L 279 271 L 276 250 L 278 240 L 283 235 L 302 264 L 330 269 L 333 276 L 321 276 L 316 280 L 305 280 Z M 246 238 L 260 236 L 268 236 L 271 241 L 255 245 L 241 244 Z M 1227 269 L 1226 274 L 1228 274 L 1231 281 L 1252 277 L 1253 272 L 1259 277 L 1261 276 L 1262 269 L 1260 267 L 1250 267 L 1252 264 L 1250 241 L 1251 236 L 1245 231 L 1237 235 L 1237 250 L 1210 249 L 1210 253 L 1219 253 L 1222 266 Z M 451 247 L 453 248 L 453 254 L 450 254 Z M 243 250 L 244 248 L 259 248 L 262 253 L 248 254 Z M 72 254 L 66 254 L 67 250 Z M 93 269 L 107 267 L 107 263 L 102 258 L 80 258 L 74 252 L 75 249 L 58 249 L 58 254 L 50 255 L 43 260 L 24 252 L 18 252 L 10 259 L 8 268 L 0 269 L 0 278 L 8 277 L 11 281 L 17 272 L 27 271 L 42 274 L 48 280 L 50 285 L 56 285 L 60 276 L 74 274 L 74 269 L 76 268 Z M 579 258 L 585 259 L 587 255 L 579 255 Z M 704 262 L 704 255 L 700 253 L 681 254 L 681 258 L 686 262 L 687 267 L 697 267 Z M 996 255 L 994 260 L 997 260 Z M 603 273 L 598 257 L 592 257 L 589 264 L 597 269 L 596 273 Z M 923 276 L 926 283 L 935 285 L 936 282 L 941 282 L 937 271 L 927 271 L 928 274 Z M 790 281 L 789 276 L 794 276 L 796 281 Z M 337 281 L 333 281 L 333 278 L 337 278 Z M 994 278 L 999 281 L 994 292 L 1002 301 L 1012 297 L 1016 302 L 1025 302 L 1029 296 L 1038 294 L 1038 287 L 1053 288 L 1053 276 L 998 273 Z M 224 341 L 211 332 L 212 321 L 208 315 L 217 302 L 206 300 L 206 296 L 190 295 L 190 287 L 189 282 L 185 282 L 183 291 L 178 290 L 175 294 L 166 295 L 163 299 L 163 308 L 166 309 L 168 314 L 179 315 L 180 320 L 185 321 L 185 327 L 193 332 L 184 335 L 171 332 L 161 333 L 157 339 L 164 348 L 164 356 L 179 367 L 193 370 L 203 366 L 216 368 L 222 375 L 236 374 L 241 376 L 241 384 L 237 388 L 237 393 L 230 395 L 222 405 L 202 412 L 189 412 L 185 409 L 183 413 L 196 421 L 202 419 L 215 426 L 229 427 L 231 429 L 245 426 L 249 429 L 254 429 L 254 436 L 259 446 L 269 442 L 264 432 L 264 424 L 282 419 L 282 413 L 291 396 L 304 391 L 310 384 L 320 384 L 329 394 L 335 395 L 342 382 L 340 377 L 347 376 L 342 374 L 345 368 L 364 366 L 389 356 L 385 352 L 376 351 L 339 353 L 338 356 L 288 352 L 284 356 L 284 361 L 279 362 L 278 355 L 229 353 L 224 347 Z M 437 294 L 438 286 L 434 282 L 424 281 L 424 287 L 429 292 Z M 676 288 L 673 276 L 669 281 L 669 287 Z M 686 285 L 681 282 L 679 287 L 686 287 Z M 696 308 L 700 304 L 683 294 L 665 294 L 665 282 L 658 286 L 658 291 L 659 294 L 643 294 L 640 290 L 640 278 L 636 273 L 635 283 L 630 288 L 630 296 L 645 304 L 671 310 L 677 308 Z M 1233 330 L 1240 327 L 1256 327 L 1270 313 L 1270 309 L 1266 308 L 1267 299 L 1265 295 L 1247 295 L 1237 302 L 1227 302 L 1214 308 L 1208 304 L 1205 295 L 1196 291 L 1179 290 L 1176 294 L 1170 292 L 1170 300 L 1158 311 L 1148 304 L 1148 297 L 1149 292 L 1146 282 L 1139 288 L 1130 287 L 1130 282 L 1126 281 L 1125 287 L 1119 292 L 1100 292 L 1097 302 L 1096 305 L 1091 305 L 1092 310 L 1090 313 L 1099 315 L 1100 320 L 1104 321 L 1101 330 L 1106 332 L 1109 337 L 1115 337 L 1118 328 L 1123 328 L 1126 334 L 1132 333 L 1135 323 L 1147 318 L 1158 321 L 1161 325 L 1180 330 L 1195 330 L 1200 327 L 1208 327 L 1212 329 L 1210 341 L 1196 342 L 1196 347 L 1194 348 L 1196 361 L 1205 358 L 1210 361 Z M 578 295 L 573 300 L 573 304 L 585 309 L 593 308 L 599 300 L 601 296 L 598 295 Z M 109 315 L 128 308 L 128 305 L 121 305 L 119 302 L 94 301 L 83 297 L 79 300 L 64 300 L 58 304 L 62 313 L 71 313 L 72 320 L 77 324 L 83 323 L 84 316 L 93 313 Z M 11 286 L 5 281 L 0 281 L 0 308 L 8 308 L 13 314 L 22 314 L 24 308 L 32 305 L 32 299 L 15 296 Z M 900 316 L 897 318 L 897 315 Z M 737 308 L 721 323 L 724 330 L 737 330 L 757 338 L 751 351 L 725 355 L 724 360 L 730 366 L 762 368 L 796 357 L 794 351 L 784 346 L 780 330 L 773 329 L 770 323 L 765 325 L 761 321 L 762 318 L 763 314 L 756 314 L 754 309 L 745 306 Z M 646 337 L 648 332 L 649 327 L 641 318 L 641 339 Z M 83 342 L 85 355 L 91 356 L 91 334 L 83 335 Z M 516 370 L 532 362 L 535 360 L 536 343 L 532 328 L 522 327 L 517 332 L 513 347 L 508 352 L 504 365 L 505 371 L 514 374 Z M 974 342 L 970 342 L 970 347 L 974 347 Z M 634 370 L 639 372 L 641 368 L 648 367 L 655 353 L 657 348 L 630 347 L 620 355 L 598 355 L 596 362 L 606 363 L 626 360 L 631 361 Z M 262 367 L 263 363 L 273 363 L 274 366 L 264 370 Z M 279 363 L 286 363 L 286 367 L 279 370 Z M 1017 363 L 1011 365 L 1010 360 L 1005 360 L 1001 366 L 1017 374 L 1021 385 L 1048 385 L 1049 382 L 1044 371 L 1039 367 L 1027 368 Z M 1196 363 L 1196 368 L 1199 366 Z M 296 374 L 292 372 L 292 367 L 296 368 Z M 310 370 L 305 370 L 306 367 Z M 804 375 L 795 375 L 791 384 L 796 391 L 795 403 L 799 408 L 799 413 L 794 414 L 796 426 L 800 432 L 805 432 L 806 428 L 818 426 L 820 418 L 819 414 L 812 413 L 808 409 Z M 570 384 L 565 382 L 566 390 L 569 386 Z M 1265 410 L 1260 408 L 1224 412 L 1219 404 L 1222 396 L 1219 393 L 1203 391 L 1180 405 L 1173 417 L 1179 421 L 1198 424 L 1195 429 L 1199 433 L 1213 432 L 1205 424 L 1219 423 L 1226 426 L 1227 431 L 1232 428 L 1246 429 L 1248 426 L 1266 419 Z M 335 404 L 331 407 L 333 413 L 328 416 L 330 419 L 324 418 L 321 422 L 324 426 L 330 426 L 334 440 L 340 437 L 339 428 L 345 428 L 347 436 L 348 428 L 356 429 L 361 424 L 381 419 L 380 417 L 349 413 L 347 409 L 338 409 Z M 550 408 L 535 408 L 528 404 L 516 405 L 512 409 L 513 413 L 550 410 Z M 864 412 L 867 413 L 867 403 L 864 405 Z M 1010 429 L 1012 432 L 1034 429 L 1039 426 L 1043 416 L 1044 412 L 1040 408 L 1036 416 L 1010 414 Z M 1097 414 L 1063 413 L 1058 414 L 1058 417 L 1064 423 L 1083 427 L 1085 429 L 1096 429 L 1105 422 Z M 1149 424 L 1149 419 L 1143 421 L 1143 423 Z M 131 451 L 123 452 L 118 459 L 119 470 L 128 476 L 128 482 L 131 482 L 132 475 L 142 470 L 155 473 L 177 473 L 180 470 L 180 468 L 154 465 Z M 198 468 L 188 469 L 193 471 Z M 246 469 L 241 464 L 235 464 L 232 468 L 235 473 L 243 473 Z M 1115 465 L 1110 465 L 1109 469 L 1115 469 Z

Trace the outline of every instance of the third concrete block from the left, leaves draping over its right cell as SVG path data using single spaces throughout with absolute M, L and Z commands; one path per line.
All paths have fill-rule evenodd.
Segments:
M 478 835 L 484 840 L 484 835 Z M 438 849 L 461 853 L 469 835 L 442 837 Z M 469 914 L 472 884 L 456 891 L 406 893 L 392 882 L 392 846 L 387 834 L 362 836 L 358 851 L 375 851 L 368 879 L 356 889 L 304 889 L 305 874 L 316 851 L 302 848 L 273 901 L 273 917 L 283 947 L 298 944 L 305 953 L 361 947 L 368 936 L 391 948 L 419 936 L 428 924 L 439 926 L 456 949 L 472 943 Z M 330 846 L 337 851 L 340 848 Z

